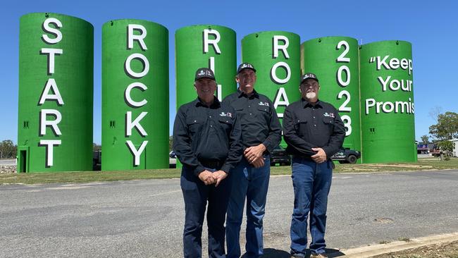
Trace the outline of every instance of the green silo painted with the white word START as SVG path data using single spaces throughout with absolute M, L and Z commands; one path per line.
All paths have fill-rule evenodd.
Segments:
M 94 28 L 29 13 L 19 30 L 18 172 L 92 170 Z

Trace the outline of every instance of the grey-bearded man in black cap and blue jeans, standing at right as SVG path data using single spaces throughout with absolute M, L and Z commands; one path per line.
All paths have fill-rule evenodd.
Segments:
M 330 156 L 342 146 L 345 127 L 335 107 L 318 99 L 319 90 L 316 75 L 302 75 L 299 86 L 302 99 L 287 106 L 283 114 L 283 137 L 286 151 L 292 154 L 295 192 L 291 257 L 305 257 L 309 211 L 311 257 L 327 257 L 324 234 L 333 177 Z

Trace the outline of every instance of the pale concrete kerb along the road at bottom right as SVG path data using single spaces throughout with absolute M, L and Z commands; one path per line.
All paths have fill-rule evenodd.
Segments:
M 458 240 L 458 232 L 457 233 L 449 233 L 449 234 L 442 234 L 442 235 L 430 235 L 423 238 L 413 238 L 406 241 L 395 241 L 389 242 L 387 244 L 380 244 L 380 245 L 369 245 L 365 247 L 358 247 L 349 250 L 340 250 L 345 257 L 349 258 L 364 258 L 364 257 L 373 257 L 379 254 L 386 254 L 388 252 L 399 252 L 402 250 L 407 250 L 416 247 L 423 247 L 425 245 L 435 245 L 444 242 L 453 242 Z

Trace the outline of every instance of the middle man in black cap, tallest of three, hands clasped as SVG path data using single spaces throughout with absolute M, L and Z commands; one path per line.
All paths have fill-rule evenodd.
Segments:
M 242 63 L 235 80 L 237 92 L 225 97 L 224 103 L 233 106 L 242 125 L 243 158 L 232 173 L 226 239 L 228 258 L 240 257 L 240 225 L 245 198 L 247 199 L 246 257 L 263 254 L 263 218 L 266 207 L 268 180 L 271 173 L 269 152 L 281 140 L 281 125 L 268 97 L 254 90 L 256 69 Z

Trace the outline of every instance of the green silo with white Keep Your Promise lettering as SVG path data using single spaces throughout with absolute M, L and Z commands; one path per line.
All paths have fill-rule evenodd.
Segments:
M 373 42 L 359 55 L 364 163 L 416 161 L 411 44 Z

